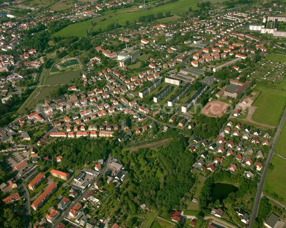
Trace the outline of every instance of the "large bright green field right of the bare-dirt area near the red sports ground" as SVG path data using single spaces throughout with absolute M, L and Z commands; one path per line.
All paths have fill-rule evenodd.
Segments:
M 278 126 L 284 111 L 286 92 L 265 86 L 258 86 L 257 89 L 262 92 L 253 103 L 253 106 L 258 108 L 253 113 L 252 120 L 261 124 Z

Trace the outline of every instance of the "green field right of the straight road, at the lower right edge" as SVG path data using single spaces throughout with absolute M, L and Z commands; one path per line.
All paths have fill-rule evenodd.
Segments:
M 280 139 L 281 140 L 281 139 Z M 265 183 L 263 186 L 263 193 L 272 198 L 286 204 L 286 160 L 274 155 L 271 163 L 274 165 L 273 170 L 267 172 Z

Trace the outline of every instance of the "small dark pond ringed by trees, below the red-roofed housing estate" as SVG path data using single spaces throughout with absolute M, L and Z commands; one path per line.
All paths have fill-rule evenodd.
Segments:
M 231 184 L 226 183 L 215 183 L 212 185 L 212 201 L 215 202 L 217 199 L 223 201 L 223 199 L 227 198 L 229 193 L 237 191 L 237 187 Z

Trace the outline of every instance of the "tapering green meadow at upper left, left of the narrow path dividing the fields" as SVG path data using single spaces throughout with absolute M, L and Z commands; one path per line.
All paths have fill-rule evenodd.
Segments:
M 93 23 L 96 23 L 96 21 L 94 20 Z M 77 37 L 84 37 L 86 36 L 86 30 L 89 30 L 91 26 L 92 25 L 90 20 L 74 23 L 54 33 L 53 36 L 71 35 Z

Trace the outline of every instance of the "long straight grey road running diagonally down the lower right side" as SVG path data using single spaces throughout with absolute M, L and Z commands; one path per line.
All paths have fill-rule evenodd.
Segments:
M 258 212 L 258 208 L 259 208 L 259 203 L 260 203 L 260 199 L 261 199 L 261 194 L 262 194 L 262 188 L 263 188 L 263 184 L 264 184 L 264 181 L 265 181 L 265 178 L 266 178 L 266 174 L 267 174 L 267 170 L 268 170 L 268 165 L 269 163 L 271 162 L 271 158 L 273 156 L 273 152 L 274 152 L 274 149 L 275 149 L 275 146 L 276 146 L 276 143 L 277 143 L 277 140 L 278 140 L 278 137 L 280 135 L 280 132 L 281 132 L 281 129 L 282 129 L 282 126 L 283 126 L 283 123 L 286 119 L 286 109 L 284 110 L 284 114 L 281 118 L 281 121 L 277 127 L 277 132 L 274 136 L 274 139 L 273 139 L 273 146 L 269 152 L 269 155 L 267 157 L 267 160 L 264 164 L 264 170 L 262 172 L 262 175 L 261 175 L 261 179 L 260 179 L 260 182 L 258 183 L 258 186 L 257 186 L 257 192 L 256 192 L 256 195 L 255 195 L 255 198 L 254 198 L 254 203 L 253 203 L 253 208 L 252 208 L 252 213 L 251 213 L 251 216 L 250 216 L 250 219 L 249 219 L 249 228 L 252 227 L 253 225 L 253 222 L 257 216 L 257 212 Z

